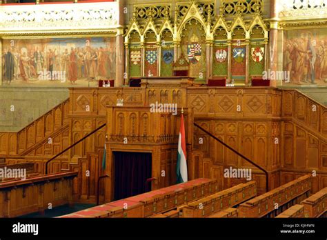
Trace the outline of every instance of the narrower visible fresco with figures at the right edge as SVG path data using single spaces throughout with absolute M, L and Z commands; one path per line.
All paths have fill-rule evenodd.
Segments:
M 325 28 L 284 31 L 284 71 L 293 85 L 327 85 L 327 32 Z

